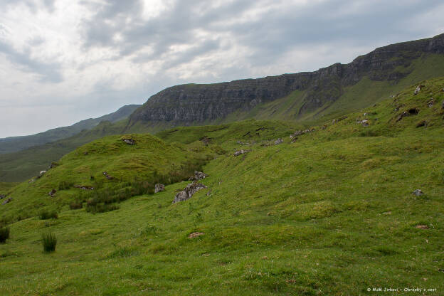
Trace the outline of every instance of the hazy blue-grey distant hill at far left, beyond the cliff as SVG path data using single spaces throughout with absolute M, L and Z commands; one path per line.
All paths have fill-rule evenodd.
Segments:
M 92 129 L 102 121 L 118 122 L 120 120 L 125 120 L 125 118 L 134 112 L 137 107 L 140 107 L 140 105 L 126 105 L 121 107 L 116 112 L 112 112 L 98 118 L 82 120 L 74 125 L 70 125 L 69 127 L 49 129 L 46 132 L 40 132 L 38 134 L 32 134 L 29 136 L 7 137 L 0 139 L 0 154 L 17 152 L 28 147 L 55 142 L 59 139 L 65 139 L 73 136 L 74 134 L 78 134 L 83 129 Z

